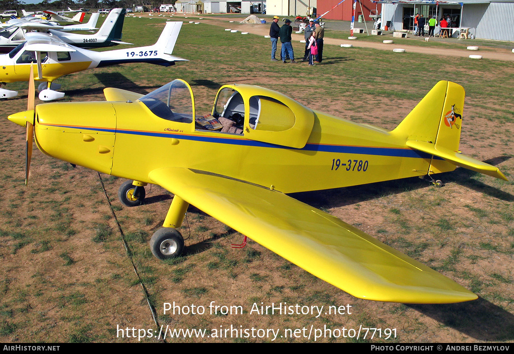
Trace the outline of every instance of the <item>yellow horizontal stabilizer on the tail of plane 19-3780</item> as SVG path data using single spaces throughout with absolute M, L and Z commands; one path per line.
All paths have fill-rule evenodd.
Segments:
M 427 141 L 407 140 L 406 144 L 412 149 L 444 158 L 446 161 L 456 166 L 464 167 L 475 172 L 484 173 L 495 178 L 508 181 L 505 175 L 497 167 L 491 166 L 479 160 L 475 160 L 472 157 L 463 155 L 450 149 L 436 147 L 434 144 L 428 143 Z

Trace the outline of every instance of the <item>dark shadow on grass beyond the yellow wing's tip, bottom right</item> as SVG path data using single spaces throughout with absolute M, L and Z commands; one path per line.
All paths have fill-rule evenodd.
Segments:
M 499 342 L 514 339 L 514 315 L 482 297 L 458 304 L 407 306 L 476 340 Z

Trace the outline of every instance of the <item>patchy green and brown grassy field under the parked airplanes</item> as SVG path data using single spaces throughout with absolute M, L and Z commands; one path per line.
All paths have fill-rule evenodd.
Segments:
M 123 40 L 154 42 L 163 22 L 127 17 Z M 293 46 L 303 51 L 303 44 Z M 148 186 L 145 204 L 127 208 L 117 199 L 121 179 L 73 168 L 40 151 L 33 153 L 31 179 L 24 185 L 25 130 L 6 117 L 26 109 L 27 83 L 14 83 L 7 87 L 20 90 L 20 98 L 0 102 L 2 342 L 155 342 L 162 340 L 146 338 L 148 329 L 161 325 L 207 329 L 211 336 L 166 342 L 313 342 L 307 338 L 310 329 L 324 331 L 320 342 L 514 341 L 511 63 L 325 46 L 323 64 L 311 67 L 270 62 L 269 51 L 269 39 L 186 23 L 173 54 L 190 62 L 169 68 L 123 64 L 58 82 L 64 100 L 91 101 L 103 100 L 107 86 L 146 93 L 181 78 L 191 84 L 200 114 L 210 112 L 221 85 L 251 83 L 309 108 L 387 129 L 437 81 L 463 85 L 460 149 L 497 165 L 509 182 L 457 168 L 438 176 L 443 188 L 407 179 L 293 197 L 427 264 L 479 300 L 405 305 L 357 299 L 252 241 L 232 249 L 243 236 L 193 206 L 180 229 L 186 254 L 158 261 L 148 240 L 166 216 L 172 199 L 166 190 Z M 164 314 L 164 303 L 179 305 L 181 313 Z M 344 312 L 318 317 L 251 312 L 253 304 L 271 303 L 344 307 Z M 210 304 L 220 307 L 211 313 Z M 201 306 L 205 313 L 198 313 Z M 357 338 L 352 330 L 360 326 L 379 328 L 381 335 Z M 234 328 L 254 328 L 255 335 L 219 333 Z M 259 329 L 290 329 L 291 335 L 273 340 Z

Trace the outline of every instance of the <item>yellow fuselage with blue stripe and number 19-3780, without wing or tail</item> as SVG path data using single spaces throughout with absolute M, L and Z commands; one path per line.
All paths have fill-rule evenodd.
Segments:
M 405 137 L 319 112 L 301 149 L 164 120 L 140 101 L 52 103 L 39 105 L 37 113 L 36 143 L 43 152 L 146 183 L 153 170 L 181 167 L 289 193 L 424 175 L 432 161 L 406 147 Z

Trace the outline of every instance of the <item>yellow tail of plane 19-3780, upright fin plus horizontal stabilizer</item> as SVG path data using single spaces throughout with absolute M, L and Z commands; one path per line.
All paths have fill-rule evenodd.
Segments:
M 391 134 L 405 138 L 408 147 L 432 155 L 428 174 L 461 166 L 506 180 L 497 167 L 459 153 L 464 96 L 461 85 L 439 81 Z

